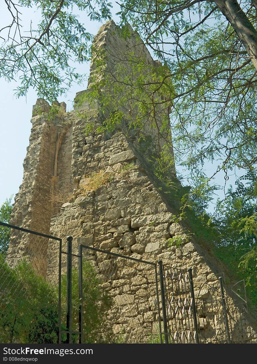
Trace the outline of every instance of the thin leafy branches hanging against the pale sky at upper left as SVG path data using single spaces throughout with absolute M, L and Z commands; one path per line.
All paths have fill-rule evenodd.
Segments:
M 98 19 L 94 7 L 80 0 L 20 0 L 18 4 L 6 2 L 10 24 L 0 29 L 0 73 L 6 80 L 19 78 L 17 96 L 26 95 L 29 87 L 37 90 L 39 97 L 53 101 L 68 90 L 73 81 L 83 79 L 74 68 L 89 59 L 92 36 L 74 15 L 73 9 L 89 12 Z M 102 17 L 110 17 L 105 1 L 100 5 Z M 110 6 L 110 4 L 109 4 Z M 33 8 L 38 24 L 22 24 L 21 11 Z M 41 15 L 40 15 L 41 13 Z

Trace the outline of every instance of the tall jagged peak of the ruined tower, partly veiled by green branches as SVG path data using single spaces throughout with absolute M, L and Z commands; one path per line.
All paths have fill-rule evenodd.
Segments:
M 114 131 L 122 131 L 130 140 L 143 135 L 155 159 L 165 146 L 174 172 L 170 105 L 166 102 L 170 95 L 160 87 L 163 71 L 130 25 L 121 29 L 109 20 L 94 37 L 88 88 L 77 93 L 74 110 L 96 110 L 95 120 L 100 124 L 107 124 L 117 112 Z M 90 122 L 88 114 L 86 122 Z

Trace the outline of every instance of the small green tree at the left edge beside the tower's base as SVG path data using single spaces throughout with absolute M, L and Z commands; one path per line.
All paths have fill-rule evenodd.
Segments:
M 12 213 L 12 195 L 0 207 L 0 221 L 9 223 Z M 11 229 L 0 225 L 0 253 L 5 257 L 10 241 Z

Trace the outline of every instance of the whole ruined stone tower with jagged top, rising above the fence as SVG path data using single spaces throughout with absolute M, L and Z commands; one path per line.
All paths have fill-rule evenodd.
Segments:
M 131 54 L 144 61 L 146 75 L 147 67 L 151 75 L 161 65 L 152 59 L 137 33 L 130 29 L 125 38 L 113 21 L 100 28 L 93 50 L 88 89 L 76 95 L 73 111 L 66 112 L 65 103 L 56 103 L 58 112 L 51 117 L 50 105 L 42 99 L 33 107 L 23 183 L 15 197 L 11 224 L 61 237 L 64 242 L 72 235 L 74 252 L 77 244 L 84 244 L 146 261 L 162 260 L 179 268 L 193 267 L 197 297 L 211 299 L 208 289 L 201 290 L 203 284 L 217 280 L 224 267 L 193 238 L 184 238 L 184 227 L 175 223 L 175 197 L 174 204 L 167 202 L 151 162 L 158 159 L 167 140 L 172 146 L 168 108 L 160 104 L 156 128 L 146 119 L 144 138 L 139 138 L 138 130 L 128 128 L 126 120 L 113 131 L 98 132 L 97 127 L 105 121 L 99 100 L 90 103 L 83 98 L 96 77 L 100 83 L 118 67 L 125 74 L 133 72 L 128 62 Z M 105 64 L 102 72 L 99 55 Z M 156 97 L 165 99 L 165 95 Z M 131 104 L 119 107 L 123 115 L 133 116 Z M 165 120 L 167 127 L 158 130 Z M 87 124 L 95 127 L 86 134 Z M 169 152 L 173 162 L 169 173 L 176 179 L 172 147 Z M 180 237 L 181 244 L 168 247 L 174 237 Z M 46 241 L 33 254 L 35 262 L 38 256 L 44 261 L 39 272 L 50 277 L 58 252 Z M 8 262 L 15 264 L 24 256 L 24 243 L 17 245 L 11 240 Z M 107 257 L 99 254 L 96 264 L 104 261 Z

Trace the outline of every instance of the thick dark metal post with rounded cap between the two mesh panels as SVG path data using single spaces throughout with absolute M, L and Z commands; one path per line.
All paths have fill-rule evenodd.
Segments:
M 72 236 L 67 236 L 67 344 L 72 343 Z

